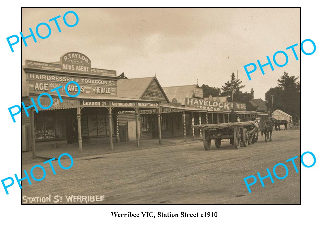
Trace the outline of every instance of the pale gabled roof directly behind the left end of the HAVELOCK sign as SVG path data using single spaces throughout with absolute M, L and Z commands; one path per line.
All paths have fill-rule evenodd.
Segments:
M 185 85 L 185 86 L 167 86 L 164 87 L 164 92 L 167 95 L 168 99 L 176 99 L 178 103 L 185 104 L 185 98 L 194 97 L 194 88 L 198 87 L 197 84 Z

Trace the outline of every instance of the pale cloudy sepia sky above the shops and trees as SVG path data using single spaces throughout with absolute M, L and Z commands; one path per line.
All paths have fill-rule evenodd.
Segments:
M 75 27 L 67 27 L 63 15 L 78 14 Z M 62 32 L 49 19 L 58 19 Z M 74 24 L 73 14 L 67 22 Z M 284 71 L 300 77 L 300 9 L 299 8 L 24 8 L 22 33 L 35 32 L 41 22 L 49 23 L 51 35 L 37 37 L 37 43 L 27 38 L 22 47 L 25 60 L 59 61 L 67 52 L 80 52 L 91 61 L 91 67 L 116 70 L 127 77 L 156 77 L 161 86 L 207 84 L 221 87 L 234 72 L 245 88 L 254 90 L 254 98 L 265 100 L 265 93 L 277 86 Z M 45 26 L 40 35 L 47 35 Z M 298 43 L 297 61 L 287 47 Z M 286 66 L 273 62 L 275 52 L 288 55 Z M 265 75 L 257 67 L 248 80 L 243 66 L 267 63 Z M 285 63 L 283 54 L 276 56 Z M 248 68 L 251 70 L 252 66 Z M 300 78 L 298 79 L 300 82 Z

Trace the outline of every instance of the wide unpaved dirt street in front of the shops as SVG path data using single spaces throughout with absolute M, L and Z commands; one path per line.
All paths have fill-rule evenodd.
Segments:
M 80 157 L 69 170 L 61 169 L 56 160 L 52 162 L 56 175 L 47 164 L 43 165 L 47 174 L 44 180 L 31 178 L 32 185 L 22 181 L 22 196 L 49 197 L 50 194 L 51 202 L 45 204 L 54 204 L 56 195 L 63 196 L 61 204 L 68 203 L 65 195 L 105 195 L 104 201 L 89 204 L 300 204 L 300 172 L 296 173 L 292 163 L 286 162 L 298 156 L 295 162 L 300 171 L 300 130 L 273 131 L 272 140 L 266 143 L 259 135 L 257 143 L 248 147 L 241 143 L 239 150 L 228 140 L 223 140 L 218 149 L 212 140 L 210 151 L 205 151 L 200 141 Z M 74 159 L 74 154 L 71 155 Z M 32 166 L 42 162 L 23 164 L 23 170 L 29 173 Z M 70 164 L 69 159 L 61 162 L 66 167 Z M 273 175 L 277 163 L 285 163 L 289 169 L 283 180 Z M 257 172 L 266 176 L 266 168 L 274 183 L 266 178 L 262 187 Z M 276 172 L 281 177 L 285 175 L 282 166 Z M 41 170 L 35 169 L 34 175 L 42 177 Z M 243 180 L 249 175 L 257 177 L 257 183 L 250 186 L 251 193 Z

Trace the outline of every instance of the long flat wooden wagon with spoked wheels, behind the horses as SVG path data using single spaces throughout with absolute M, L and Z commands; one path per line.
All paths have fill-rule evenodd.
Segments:
M 257 141 L 254 121 L 194 125 L 192 128 L 201 128 L 203 146 L 206 151 L 210 149 L 211 139 L 215 140 L 217 148 L 220 147 L 222 139 L 230 139 L 236 149 L 240 148 L 241 141 L 245 147 Z

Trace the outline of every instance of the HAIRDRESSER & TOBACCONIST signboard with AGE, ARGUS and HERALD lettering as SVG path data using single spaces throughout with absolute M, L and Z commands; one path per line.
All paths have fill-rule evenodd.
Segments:
M 27 72 L 27 80 L 29 83 L 29 93 L 41 94 L 43 92 L 50 93 L 52 89 L 62 86 L 59 92 L 63 96 L 67 96 L 64 87 L 67 82 L 77 82 L 80 85 L 81 92 L 79 97 L 83 96 L 102 96 L 113 97 L 116 96 L 116 80 L 109 79 L 94 79 L 81 78 L 74 75 L 52 75 L 46 73 Z M 78 92 L 75 84 L 70 84 L 67 91 L 71 95 Z M 54 92 L 56 94 L 56 92 Z

